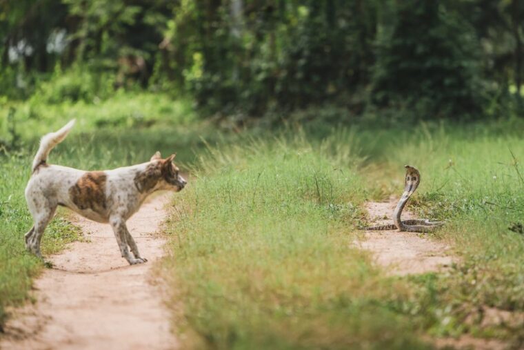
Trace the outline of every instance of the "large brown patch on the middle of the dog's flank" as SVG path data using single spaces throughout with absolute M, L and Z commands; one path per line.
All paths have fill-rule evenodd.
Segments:
M 91 209 L 96 213 L 104 213 L 105 182 L 108 176 L 103 171 L 85 173 L 74 186 L 69 188 L 72 202 L 81 210 Z

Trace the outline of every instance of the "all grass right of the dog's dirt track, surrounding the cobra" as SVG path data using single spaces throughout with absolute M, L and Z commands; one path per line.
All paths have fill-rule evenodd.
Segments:
M 186 346 L 405 349 L 461 334 L 521 346 L 522 318 L 485 314 L 524 311 L 524 240 L 507 229 L 524 206 L 514 126 L 339 129 L 322 142 L 212 148 L 180 196 L 166 262 Z M 423 174 L 416 209 L 448 222 L 432 235 L 460 257 L 447 273 L 387 278 L 351 248 L 359 204 L 398 195 L 403 164 Z

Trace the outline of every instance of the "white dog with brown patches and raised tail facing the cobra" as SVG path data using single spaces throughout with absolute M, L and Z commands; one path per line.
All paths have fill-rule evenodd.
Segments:
M 74 119 L 40 141 L 26 187 L 26 201 L 34 221 L 34 226 L 25 235 L 26 248 L 41 257 L 43 231 L 57 206 L 66 206 L 90 220 L 109 223 L 121 255 L 129 264 L 148 261 L 141 257 L 125 222 L 151 193 L 159 190 L 178 192 L 185 187 L 187 182 L 173 163 L 175 155 L 163 159 L 157 151 L 149 162 L 108 171 L 81 171 L 48 164 L 50 150 L 66 138 L 73 126 Z

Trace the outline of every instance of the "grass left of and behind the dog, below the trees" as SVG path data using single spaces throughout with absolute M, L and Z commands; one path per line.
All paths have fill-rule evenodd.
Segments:
M 32 226 L 23 191 L 39 137 L 76 117 L 71 135 L 50 154 L 51 164 L 116 168 L 146 162 L 156 150 L 163 155 L 178 152 L 177 163 L 184 164 L 192 162 L 194 150 L 204 146 L 199 137 L 212 141 L 214 134 L 205 123 L 188 121 L 194 114 L 186 113 L 183 106 L 163 95 L 144 94 L 117 95 L 99 104 L 9 101 L 0 110 L 0 329 L 6 307 L 27 300 L 32 278 L 43 269 L 41 260 L 26 252 L 23 240 Z M 64 213 L 59 211 L 46 229 L 43 255 L 57 253 L 79 239 Z

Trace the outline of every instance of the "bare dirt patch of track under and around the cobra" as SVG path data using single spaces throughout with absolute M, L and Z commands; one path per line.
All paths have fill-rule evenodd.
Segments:
M 388 203 L 369 202 L 366 209 L 376 224 L 393 222 L 392 213 L 396 201 Z M 413 218 L 404 211 L 402 219 Z M 452 264 L 450 247 L 424 237 L 421 233 L 397 231 L 365 231 L 364 239 L 354 242 L 357 246 L 372 251 L 377 264 L 384 266 L 392 275 L 439 271 Z

